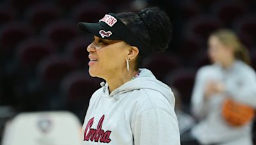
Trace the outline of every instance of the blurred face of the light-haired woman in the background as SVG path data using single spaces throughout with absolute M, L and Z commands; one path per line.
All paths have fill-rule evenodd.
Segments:
M 223 45 L 216 36 L 209 38 L 208 47 L 208 55 L 212 62 L 220 62 L 223 64 L 233 55 L 232 49 Z

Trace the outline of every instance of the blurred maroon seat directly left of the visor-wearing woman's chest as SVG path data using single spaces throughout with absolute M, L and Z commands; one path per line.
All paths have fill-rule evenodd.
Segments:
M 65 97 L 65 107 L 79 116 L 83 122 L 90 98 L 101 86 L 102 79 L 92 78 L 88 71 L 74 71 L 61 81 L 60 94 Z

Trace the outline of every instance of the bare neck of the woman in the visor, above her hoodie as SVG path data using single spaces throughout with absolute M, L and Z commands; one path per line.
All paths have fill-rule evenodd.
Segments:
M 127 81 L 131 81 L 134 75 L 138 72 L 138 70 L 124 70 L 119 73 L 112 74 L 111 77 L 106 78 L 105 80 L 109 86 L 109 93 L 113 92 L 119 86 L 122 86 Z

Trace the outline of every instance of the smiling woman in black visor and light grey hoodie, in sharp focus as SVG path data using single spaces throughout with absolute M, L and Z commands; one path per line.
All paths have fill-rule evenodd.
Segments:
M 172 27 L 166 13 L 159 8 L 109 13 L 78 27 L 94 35 L 87 47 L 90 75 L 106 81 L 90 99 L 83 144 L 180 144 L 172 90 L 139 69 L 150 50 L 168 48 Z

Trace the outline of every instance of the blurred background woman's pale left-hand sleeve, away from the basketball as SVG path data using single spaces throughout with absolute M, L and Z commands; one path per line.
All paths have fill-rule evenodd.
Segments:
M 196 118 L 204 118 L 208 112 L 209 101 L 205 100 L 205 69 L 200 69 L 196 73 L 195 83 L 191 96 L 191 110 Z

